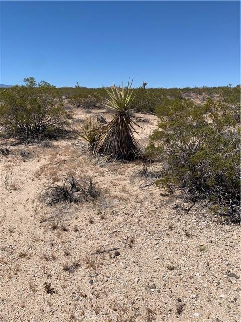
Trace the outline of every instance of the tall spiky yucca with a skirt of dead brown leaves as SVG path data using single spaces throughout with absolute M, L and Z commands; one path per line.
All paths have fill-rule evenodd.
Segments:
M 96 152 L 108 155 L 112 159 L 134 159 L 138 153 L 137 142 L 134 134 L 137 133 L 134 119 L 137 117 L 132 112 L 135 93 L 132 82 L 127 86 L 111 89 L 105 88 L 108 98 L 103 101 L 104 106 L 113 112 L 113 119 L 100 129 L 100 136 L 96 146 Z M 139 126 L 140 127 L 140 126 Z

